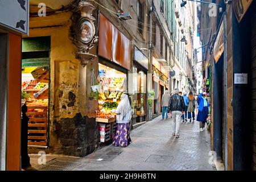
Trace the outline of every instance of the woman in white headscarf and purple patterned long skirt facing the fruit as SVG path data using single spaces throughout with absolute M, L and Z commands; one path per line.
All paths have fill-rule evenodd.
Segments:
M 114 133 L 113 146 L 126 147 L 131 143 L 131 105 L 127 94 L 122 94 L 121 101 L 118 104 L 115 113 L 117 114 L 117 129 Z

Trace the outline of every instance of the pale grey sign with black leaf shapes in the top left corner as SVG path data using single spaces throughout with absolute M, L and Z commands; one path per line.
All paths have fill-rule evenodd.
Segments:
M 29 0 L 0 0 L 0 26 L 28 35 Z

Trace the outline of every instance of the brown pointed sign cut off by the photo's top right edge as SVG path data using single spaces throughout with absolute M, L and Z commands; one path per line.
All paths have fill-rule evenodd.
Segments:
M 253 0 L 233 0 L 233 9 L 237 20 L 240 23 Z

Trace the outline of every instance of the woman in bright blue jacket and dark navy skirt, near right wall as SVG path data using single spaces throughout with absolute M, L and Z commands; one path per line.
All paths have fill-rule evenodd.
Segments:
M 199 100 L 199 108 L 196 120 L 200 122 L 200 131 L 205 130 L 205 122 L 207 122 L 209 114 L 209 103 L 205 98 L 206 94 L 207 93 L 203 92 L 197 97 Z

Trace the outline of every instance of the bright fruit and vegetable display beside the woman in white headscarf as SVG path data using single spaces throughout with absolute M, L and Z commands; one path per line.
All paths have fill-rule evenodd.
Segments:
M 96 121 L 99 125 L 100 142 L 113 137 L 115 113 L 122 94 L 127 92 L 127 76 L 121 69 L 111 65 L 98 65 L 100 84 L 98 85 L 98 112 Z M 118 70 L 117 70 L 118 69 Z

